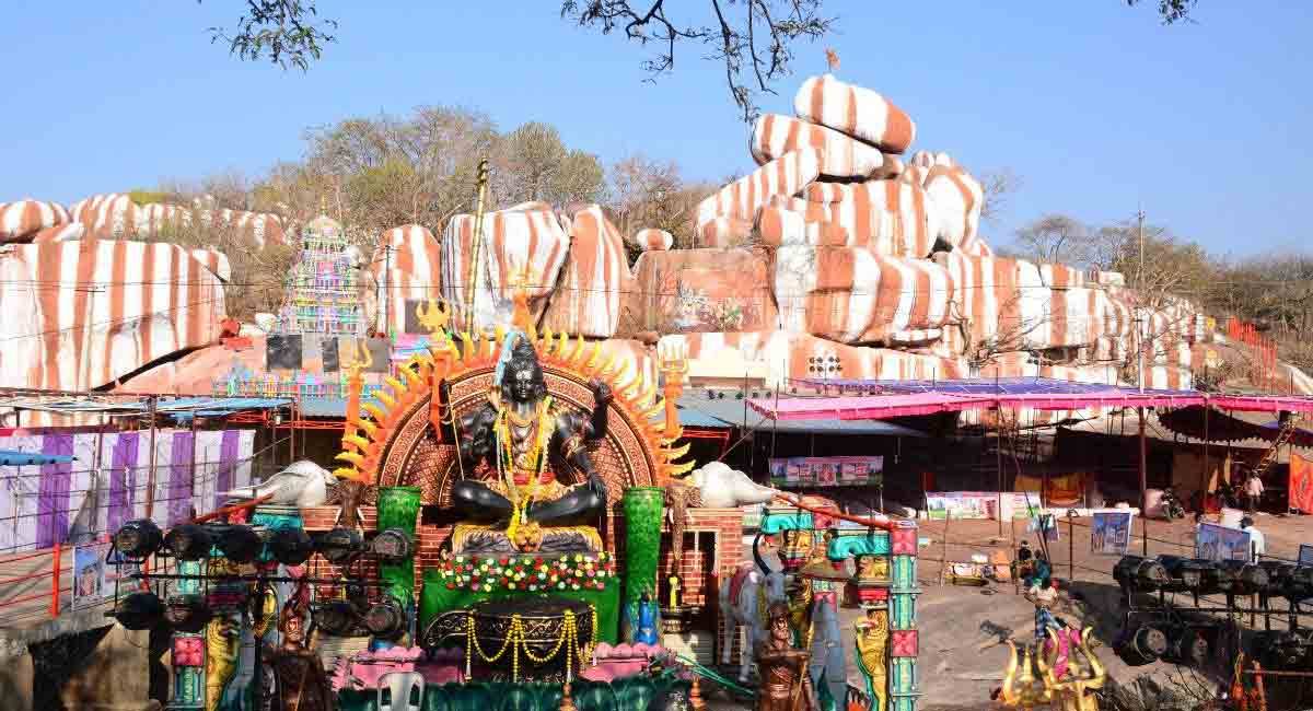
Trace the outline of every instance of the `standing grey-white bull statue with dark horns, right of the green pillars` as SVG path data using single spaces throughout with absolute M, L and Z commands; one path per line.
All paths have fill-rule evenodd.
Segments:
M 746 628 L 739 644 L 739 681 L 748 681 L 752 669 L 752 651 L 767 638 L 765 610 L 776 602 L 784 602 L 784 561 L 771 547 L 762 554 L 762 539 L 758 534 L 752 540 L 752 563 L 742 563 L 738 571 L 721 586 L 721 610 L 726 613 L 725 640 L 721 644 L 722 659 L 730 664 L 730 645 L 738 635 L 739 626 Z

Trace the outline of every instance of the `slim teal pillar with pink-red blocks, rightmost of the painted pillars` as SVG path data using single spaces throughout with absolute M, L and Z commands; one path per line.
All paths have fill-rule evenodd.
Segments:
M 916 523 L 897 521 L 890 531 L 893 585 L 889 588 L 889 707 L 915 711 L 920 685 L 916 678 Z

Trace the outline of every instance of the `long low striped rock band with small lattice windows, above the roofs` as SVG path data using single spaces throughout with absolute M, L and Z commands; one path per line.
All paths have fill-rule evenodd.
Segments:
M 966 365 L 958 358 L 851 346 L 790 331 L 670 335 L 656 345 L 658 353 L 663 349 L 681 349 L 688 354 L 687 378 L 692 380 L 748 374 L 771 388 L 788 388 L 793 379 L 819 378 L 814 370 L 817 359 L 829 362 L 830 358 L 838 362 L 838 370 L 830 374 L 834 378 L 943 380 L 966 376 Z

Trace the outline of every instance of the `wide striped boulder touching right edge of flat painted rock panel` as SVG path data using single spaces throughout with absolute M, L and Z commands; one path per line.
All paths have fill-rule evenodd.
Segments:
M 927 260 L 850 247 L 781 247 L 775 298 L 786 331 L 846 344 L 926 345 L 943 336 L 952 279 Z

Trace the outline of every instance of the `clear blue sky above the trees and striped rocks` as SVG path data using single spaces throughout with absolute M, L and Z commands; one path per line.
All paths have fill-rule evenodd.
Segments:
M 1024 178 L 986 226 L 995 243 L 1046 211 L 1111 222 L 1144 205 L 1216 252 L 1300 245 L 1313 202 L 1313 3 L 1205 0 L 1196 24 L 1174 28 L 1155 4 L 829 0 L 838 33 L 800 45 L 796 76 L 763 108 L 789 113 L 829 45 L 840 77 L 911 114 L 914 150 Z M 702 178 L 752 165 L 720 64 L 688 46 L 674 75 L 645 83 L 643 50 L 559 20 L 554 0 L 320 0 L 339 41 L 307 73 L 210 45 L 206 28 L 231 25 L 242 5 L 7 3 L 0 201 L 257 176 L 298 157 L 309 126 L 435 104 L 481 109 L 503 129 L 545 121 L 608 161 L 641 151 Z

